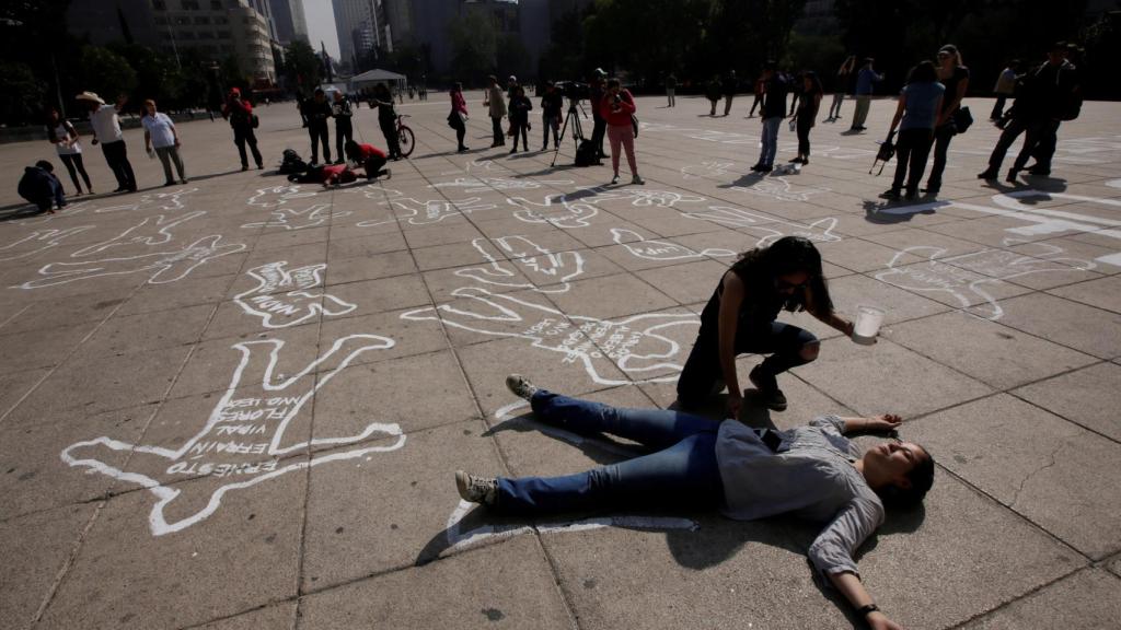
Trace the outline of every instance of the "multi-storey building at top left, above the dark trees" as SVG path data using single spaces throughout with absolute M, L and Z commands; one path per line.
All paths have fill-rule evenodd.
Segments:
M 270 15 L 268 0 L 73 0 L 66 19 L 72 35 L 99 46 L 132 41 L 176 62 L 186 49 L 217 63 L 234 57 L 254 81 L 274 84 Z

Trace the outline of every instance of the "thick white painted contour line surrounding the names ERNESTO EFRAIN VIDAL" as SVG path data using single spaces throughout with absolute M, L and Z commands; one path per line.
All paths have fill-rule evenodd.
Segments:
M 318 376 L 318 378 L 315 381 L 315 385 L 312 386 L 312 389 L 299 397 L 300 398 L 299 402 L 297 405 L 295 405 L 295 406 L 291 407 L 288 416 L 276 428 L 276 434 L 274 435 L 271 444 L 270 444 L 270 447 L 269 447 L 269 454 L 270 455 L 284 455 L 284 454 L 287 454 L 287 453 L 291 453 L 293 451 L 296 451 L 296 450 L 299 450 L 299 448 L 308 448 L 311 446 L 317 446 L 317 445 L 324 445 L 324 444 L 353 444 L 355 442 L 360 442 L 362 439 L 365 439 L 367 437 L 369 437 L 371 435 L 374 435 L 376 433 L 385 433 L 385 434 L 387 434 L 389 436 L 397 436 L 397 439 L 396 439 L 396 442 L 393 442 L 393 444 L 382 445 L 382 446 L 370 446 L 370 447 L 367 447 L 367 448 L 360 448 L 360 450 L 356 450 L 356 451 L 349 451 L 349 452 L 345 452 L 345 453 L 330 453 L 330 454 L 321 455 L 321 456 L 317 456 L 317 457 L 313 456 L 311 461 L 303 461 L 303 462 L 296 462 L 296 463 L 293 463 L 293 464 L 288 464 L 288 465 L 285 465 L 282 467 L 276 469 L 275 471 L 267 472 L 265 474 L 261 474 L 260 476 L 256 476 L 253 479 L 250 479 L 250 480 L 247 480 L 247 481 L 243 481 L 243 482 L 237 482 L 237 483 L 229 483 L 229 484 L 220 485 L 211 494 L 211 499 L 207 502 L 207 504 L 206 504 L 205 508 L 203 508 L 202 510 L 195 512 L 194 515 L 192 515 L 189 517 L 186 517 L 186 518 L 184 518 L 182 520 L 178 520 L 178 521 L 172 522 L 172 524 L 167 522 L 167 520 L 165 519 L 165 517 L 164 517 L 164 509 L 172 501 L 174 501 L 176 497 L 178 497 L 182 493 L 182 490 L 179 490 L 177 488 L 170 488 L 168 485 L 164 485 L 158 480 L 155 480 L 155 479 L 152 479 L 152 478 L 150 478 L 148 475 L 145 475 L 145 474 L 130 473 L 130 472 L 126 472 L 126 471 L 122 471 L 120 469 L 117 469 L 114 466 L 110 466 L 110 465 L 108 465 L 104 462 L 101 462 L 99 460 L 80 460 L 80 458 L 75 458 L 75 457 L 73 457 L 71 455 L 71 451 L 73 451 L 74 448 L 89 447 L 89 446 L 99 446 L 100 445 L 100 446 L 108 447 L 111 451 L 132 451 L 132 452 L 138 452 L 138 453 L 148 453 L 148 454 L 152 454 L 152 455 L 159 455 L 159 456 L 167 457 L 169 462 L 173 462 L 175 460 L 179 460 L 180 457 L 183 457 L 183 455 L 187 454 L 187 452 L 191 450 L 192 444 L 196 443 L 198 439 L 201 439 L 202 437 L 204 437 L 205 435 L 207 435 L 209 432 L 216 424 L 219 424 L 219 419 L 220 419 L 219 411 L 226 404 L 229 404 L 230 400 L 233 399 L 233 397 L 234 397 L 234 395 L 237 392 L 238 386 L 240 385 L 240 381 L 241 381 L 242 371 L 249 364 L 249 359 L 250 359 L 250 349 L 249 349 L 249 346 L 253 346 L 253 345 L 272 345 L 274 346 L 272 350 L 270 351 L 269 365 L 268 365 L 268 368 L 267 368 L 267 370 L 265 372 L 265 377 L 262 378 L 261 387 L 262 387 L 262 389 L 265 391 L 280 391 L 280 390 L 286 389 L 288 386 L 290 386 L 291 383 L 294 383 L 298 379 L 307 377 L 316 367 L 318 367 L 322 362 L 328 360 L 335 352 L 337 352 L 339 348 L 341 348 L 343 343 L 345 343 L 345 342 L 348 342 L 349 340 L 352 340 L 352 339 L 377 340 L 378 343 L 377 344 L 371 344 L 371 345 L 368 345 L 368 346 L 359 348 L 358 350 L 355 350 L 354 352 L 352 352 L 349 356 L 346 356 L 339 364 L 339 367 L 336 367 L 334 370 L 332 370 L 331 372 L 328 372 L 326 376 L 322 376 L 322 374 Z M 111 478 L 120 480 L 120 481 L 126 481 L 126 482 L 129 482 L 129 483 L 136 483 L 136 484 L 138 484 L 138 485 L 140 485 L 142 488 L 147 488 L 158 499 L 156 501 L 156 504 L 152 506 L 151 512 L 149 512 L 149 515 L 148 515 L 148 526 L 151 529 L 151 532 L 152 532 L 154 536 L 164 536 L 165 534 L 172 534 L 172 532 L 175 532 L 175 531 L 180 531 L 180 530 L 183 530 L 183 529 L 185 529 L 187 527 L 191 527 L 192 525 L 195 525 L 195 524 L 197 524 L 197 522 L 206 519 L 211 515 L 213 515 L 217 510 L 217 508 L 221 507 L 221 504 L 222 504 L 222 497 L 226 492 L 229 492 L 230 490 L 241 490 L 241 489 L 245 489 L 245 488 L 251 488 L 251 487 L 257 485 L 258 483 L 260 483 L 262 481 L 267 481 L 269 479 L 274 479 L 274 478 L 280 476 L 280 475 L 282 475 L 285 473 L 289 473 L 289 472 L 303 470 L 303 469 L 306 469 L 308 466 L 316 466 L 316 465 L 319 465 L 319 464 L 325 464 L 325 463 L 341 461 L 341 460 L 352 460 L 352 458 L 355 458 L 355 457 L 364 456 L 364 455 L 367 455 L 369 453 L 396 451 L 396 450 L 398 450 L 398 448 L 400 448 L 400 447 L 402 447 L 405 445 L 406 436 L 405 436 L 404 433 L 401 433 L 401 429 L 400 429 L 399 425 L 397 425 L 397 424 L 370 423 L 367 426 L 367 428 L 361 434 L 355 435 L 355 436 L 334 437 L 334 438 L 312 438 L 312 439 L 309 439 L 307 442 L 294 444 L 291 446 L 286 447 L 286 448 L 280 448 L 278 446 L 278 443 L 282 438 L 285 430 L 287 430 L 288 424 L 293 420 L 293 418 L 295 418 L 295 416 L 304 407 L 304 404 L 308 399 L 311 399 L 312 396 L 314 396 L 315 392 L 319 390 L 319 388 L 322 388 L 324 385 L 326 385 L 332 378 L 334 378 L 335 374 L 337 374 L 343 369 L 345 369 L 362 352 L 365 352 L 367 350 L 385 350 L 385 349 L 388 349 L 388 348 L 392 348 L 395 345 L 395 342 L 391 339 L 382 337 L 382 336 L 379 336 L 379 335 L 368 335 L 368 334 L 346 335 L 345 337 L 341 337 L 341 339 L 336 340 L 335 343 L 334 343 L 334 345 L 332 345 L 331 349 L 325 354 L 321 355 L 315 361 L 313 361 L 312 363 L 309 363 L 306 368 L 304 368 L 303 370 L 300 370 L 300 372 L 298 374 L 296 374 L 295 377 L 291 377 L 291 378 L 289 378 L 287 380 L 282 381 L 279 386 L 270 385 L 270 381 L 272 380 L 272 372 L 274 372 L 274 370 L 276 368 L 277 353 L 280 351 L 281 348 L 284 348 L 284 344 L 285 344 L 285 342 L 281 341 L 281 340 L 250 341 L 250 342 L 241 342 L 241 343 L 233 344 L 232 349 L 239 350 L 242 353 L 242 356 L 241 356 L 241 362 L 238 364 L 238 368 L 234 370 L 233 377 L 231 378 L 230 388 L 226 389 L 225 393 L 222 396 L 222 399 L 219 400 L 217 405 L 215 405 L 215 407 L 214 407 L 214 410 L 211 411 L 211 417 L 207 419 L 206 426 L 203 428 L 203 430 L 201 430 L 194 437 L 192 437 L 191 439 L 188 439 L 186 442 L 186 444 L 184 444 L 180 448 L 178 448 L 178 450 L 170 450 L 170 448 L 165 448 L 165 447 L 160 447 L 160 446 L 133 445 L 133 444 L 128 444 L 126 442 L 120 442 L 120 441 L 117 441 L 117 439 L 111 439 L 109 437 L 98 437 L 98 438 L 94 438 L 94 439 L 86 439 L 86 441 L 82 441 L 82 442 L 76 442 L 76 443 L 67 446 L 66 448 L 63 450 L 62 454 L 59 455 L 61 458 L 62 458 L 62 461 L 65 462 L 66 464 L 68 464 L 71 467 L 84 466 L 84 467 L 87 467 L 90 471 L 99 472 L 101 474 L 104 474 L 106 476 L 111 476 Z

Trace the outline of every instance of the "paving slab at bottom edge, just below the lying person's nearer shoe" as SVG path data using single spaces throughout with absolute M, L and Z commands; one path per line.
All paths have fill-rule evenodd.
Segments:
M 485 580 L 480 576 L 485 575 Z M 416 585 L 425 585 L 417 597 Z M 409 605 L 401 605 L 409 602 Z M 571 628 L 540 546 L 528 536 L 304 597 L 299 628 Z

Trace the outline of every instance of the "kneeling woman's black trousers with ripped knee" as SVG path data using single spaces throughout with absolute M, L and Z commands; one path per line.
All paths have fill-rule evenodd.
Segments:
M 740 321 L 734 350 L 736 355 L 770 354 L 763 360 L 762 369 L 778 374 L 808 363 L 802 358 L 802 349 L 815 342 L 817 337 L 813 333 L 790 324 L 748 324 Z M 713 386 L 723 374 L 720 367 L 720 333 L 716 326 L 702 325 L 682 376 L 677 379 L 677 400 L 685 406 L 703 404 L 713 393 Z

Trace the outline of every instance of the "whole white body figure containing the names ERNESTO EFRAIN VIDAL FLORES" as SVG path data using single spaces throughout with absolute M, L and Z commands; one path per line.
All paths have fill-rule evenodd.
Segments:
M 98 437 L 67 446 L 61 454 L 71 466 L 87 469 L 113 479 L 147 488 L 156 503 L 148 515 L 154 536 L 180 531 L 213 515 L 223 498 L 233 490 L 245 490 L 282 474 L 331 462 L 369 457 L 372 453 L 396 451 L 405 445 L 406 436 L 397 424 L 370 423 L 356 435 L 341 437 L 307 437 L 306 430 L 291 427 L 306 417 L 305 405 L 316 391 L 344 370 L 360 354 L 371 350 L 392 348 L 393 341 L 379 335 L 348 335 L 321 356 L 290 378 L 276 373 L 277 361 L 285 342 L 280 340 L 237 343 L 232 349 L 241 353 L 230 387 L 215 405 L 197 434 L 178 448 L 155 445 L 133 445 L 110 437 Z M 242 382 L 247 373 L 262 373 L 261 381 Z M 316 427 L 319 425 L 317 424 Z M 306 427 L 300 427 L 302 429 Z M 286 434 L 296 437 L 288 438 Z M 382 438 L 374 445 L 358 443 Z M 391 441 L 386 439 L 391 438 Z M 303 452 L 314 446 L 355 445 L 349 451 L 332 451 L 313 455 L 311 460 L 287 454 Z M 122 471 L 106 460 L 114 453 L 130 452 L 132 471 Z M 161 472 L 152 472 L 161 471 Z M 152 476 L 163 478 L 156 479 Z M 191 478 L 217 480 L 217 485 L 200 481 L 189 484 L 174 483 Z M 185 492 L 209 492 L 205 506 L 182 518 L 170 517 L 169 508 Z M 182 503 L 191 503 L 182 501 Z M 193 508 L 179 508 L 189 511 Z

